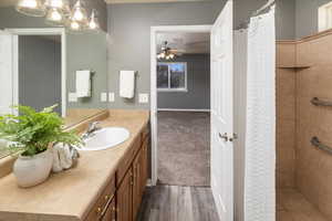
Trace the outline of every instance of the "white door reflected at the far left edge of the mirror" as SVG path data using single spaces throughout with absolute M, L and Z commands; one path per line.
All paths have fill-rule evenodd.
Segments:
M 12 114 L 13 105 L 13 63 L 10 33 L 0 31 L 0 115 Z

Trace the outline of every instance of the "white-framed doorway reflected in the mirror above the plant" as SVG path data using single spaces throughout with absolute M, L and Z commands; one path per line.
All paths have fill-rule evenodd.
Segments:
M 11 44 L 9 105 L 25 105 L 38 110 L 58 104 L 66 113 L 65 31 L 59 29 L 8 29 Z M 15 114 L 15 113 L 14 113 Z

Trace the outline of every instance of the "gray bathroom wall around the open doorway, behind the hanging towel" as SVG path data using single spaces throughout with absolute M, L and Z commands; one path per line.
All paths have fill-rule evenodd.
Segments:
M 138 93 L 149 93 L 151 27 L 181 24 L 212 24 L 225 0 L 206 2 L 111 4 L 108 11 L 108 88 L 115 92 L 112 108 L 149 108 L 138 104 Z M 266 0 L 235 0 L 235 27 L 242 23 Z M 277 27 L 279 39 L 294 38 L 294 0 L 278 0 Z M 136 97 L 124 101 L 118 97 L 118 72 L 138 71 Z

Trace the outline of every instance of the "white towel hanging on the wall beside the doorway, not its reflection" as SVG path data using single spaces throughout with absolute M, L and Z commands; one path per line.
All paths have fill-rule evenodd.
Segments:
M 133 98 L 135 93 L 135 71 L 120 72 L 120 96 Z

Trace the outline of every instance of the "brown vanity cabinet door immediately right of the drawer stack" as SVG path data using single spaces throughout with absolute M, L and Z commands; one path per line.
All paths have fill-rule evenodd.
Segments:
M 126 172 L 116 192 L 117 221 L 133 221 L 133 168 Z

